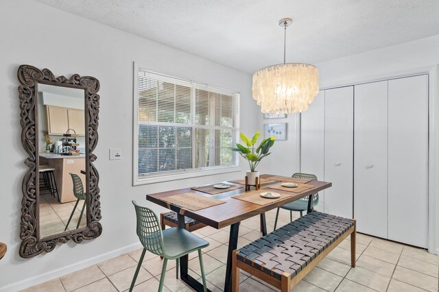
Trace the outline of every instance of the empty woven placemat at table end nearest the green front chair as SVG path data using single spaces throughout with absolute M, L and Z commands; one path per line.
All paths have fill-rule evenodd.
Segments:
M 183 193 L 180 195 L 171 195 L 163 197 L 163 201 L 174 204 L 191 211 L 198 211 L 204 208 L 224 204 L 225 201 L 213 199 L 213 197 L 204 197 L 195 193 Z

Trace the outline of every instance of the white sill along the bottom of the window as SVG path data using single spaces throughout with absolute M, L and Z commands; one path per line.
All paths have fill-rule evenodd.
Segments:
M 134 178 L 133 186 L 140 186 L 142 184 L 155 184 L 157 182 L 171 182 L 173 180 L 185 180 L 186 178 L 199 178 L 206 175 L 215 175 L 221 173 L 231 173 L 241 171 L 239 167 L 227 167 L 219 169 L 200 169 L 195 171 L 182 171 L 181 173 L 163 173 L 145 178 Z

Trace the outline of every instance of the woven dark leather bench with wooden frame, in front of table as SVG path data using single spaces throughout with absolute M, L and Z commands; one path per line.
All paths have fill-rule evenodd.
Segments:
M 351 235 L 355 267 L 355 219 L 310 212 L 282 228 L 233 251 L 233 291 L 239 291 L 239 269 L 290 291 L 331 250 Z

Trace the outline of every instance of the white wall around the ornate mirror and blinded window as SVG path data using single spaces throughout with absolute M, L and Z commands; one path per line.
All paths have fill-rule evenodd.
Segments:
M 0 260 L 0 291 L 17 291 L 139 247 L 132 199 L 158 212 L 157 206 L 146 202 L 145 194 L 244 175 L 228 173 L 132 186 L 133 62 L 161 73 L 239 90 L 241 108 L 246 109 L 241 113 L 243 132 L 257 130 L 250 75 L 28 0 L 0 1 L 0 36 L 0 241 L 8 245 L 8 253 Z M 48 68 L 57 76 L 91 75 L 101 82 L 95 165 L 100 176 L 102 236 L 81 244 L 69 242 L 30 259 L 19 256 L 21 182 L 27 171 L 16 77 L 20 64 Z M 110 147 L 122 149 L 122 160 L 108 160 Z

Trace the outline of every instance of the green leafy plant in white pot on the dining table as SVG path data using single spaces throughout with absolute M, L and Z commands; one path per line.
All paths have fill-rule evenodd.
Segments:
M 269 156 L 270 148 L 274 145 L 275 136 L 271 136 L 269 138 L 263 139 L 261 144 L 254 149 L 254 145 L 257 143 L 259 138 L 259 132 L 256 132 L 254 136 L 250 139 L 244 133 L 241 133 L 241 140 L 244 142 L 244 145 L 239 143 L 236 144 L 236 148 L 233 148 L 233 151 L 239 152 L 242 157 L 244 157 L 248 161 L 248 165 L 250 165 L 250 171 L 246 172 L 247 182 L 249 185 L 256 185 L 256 178 L 259 178 L 259 171 L 256 170 L 256 167 L 261 162 L 262 158 L 265 156 Z

